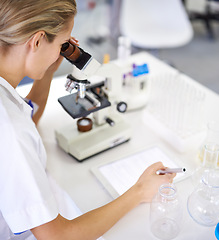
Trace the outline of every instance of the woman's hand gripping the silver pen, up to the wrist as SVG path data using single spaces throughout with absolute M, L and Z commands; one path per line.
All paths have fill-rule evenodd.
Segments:
M 140 190 L 141 202 L 151 202 L 153 196 L 157 193 L 160 185 L 171 183 L 176 176 L 175 173 L 158 175 L 156 172 L 165 169 L 161 162 L 157 162 L 148 167 L 133 186 Z

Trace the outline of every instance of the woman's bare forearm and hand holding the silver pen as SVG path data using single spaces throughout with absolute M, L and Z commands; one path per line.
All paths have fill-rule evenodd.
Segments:
M 55 220 L 31 231 L 37 239 L 73 239 L 72 236 L 77 240 L 97 239 L 139 203 L 151 201 L 161 184 L 172 182 L 175 174 L 157 175 L 159 169 L 165 169 L 162 163 L 151 165 L 131 189 L 100 208 L 73 220 L 58 215 Z

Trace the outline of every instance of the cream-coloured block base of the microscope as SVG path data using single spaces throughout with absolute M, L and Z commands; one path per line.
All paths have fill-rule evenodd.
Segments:
M 115 119 L 113 119 L 115 120 Z M 88 132 L 79 132 L 76 126 L 55 131 L 58 145 L 77 161 L 81 162 L 105 150 L 127 142 L 131 127 L 124 121 L 115 121 L 114 126 L 93 126 Z

